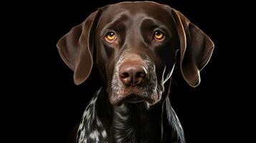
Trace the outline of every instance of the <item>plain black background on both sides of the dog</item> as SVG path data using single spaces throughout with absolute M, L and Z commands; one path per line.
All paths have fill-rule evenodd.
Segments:
M 1 10 L 2 104 L 8 139 L 27 142 L 65 142 L 80 121 L 87 102 L 101 82 L 94 73 L 75 86 L 73 72 L 57 52 L 57 41 L 100 6 L 118 1 L 13 2 Z M 253 46 L 252 14 L 245 4 L 222 1 L 157 1 L 181 11 L 214 41 L 202 82 L 192 88 L 174 71 L 171 103 L 184 127 L 186 142 L 231 142 L 247 139 L 243 107 L 250 76 Z M 4 5 L 5 6 L 5 5 Z M 248 76 L 248 77 L 246 77 Z M 253 82 L 252 82 L 253 83 Z M 237 95 L 238 94 L 238 95 Z M 251 93 L 253 95 L 253 92 Z M 250 108 L 252 109 L 252 107 Z M 247 133 L 246 133 L 247 134 Z M 245 140 L 243 141 L 245 142 Z

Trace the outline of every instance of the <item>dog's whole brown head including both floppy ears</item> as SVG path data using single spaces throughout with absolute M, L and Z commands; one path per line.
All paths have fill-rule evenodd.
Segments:
M 209 37 L 179 11 L 154 2 L 104 6 L 63 36 L 57 46 L 75 71 L 75 84 L 87 79 L 97 61 L 113 105 L 156 104 L 164 82 L 171 77 L 178 50 L 181 73 L 196 87 L 199 71 L 214 48 Z

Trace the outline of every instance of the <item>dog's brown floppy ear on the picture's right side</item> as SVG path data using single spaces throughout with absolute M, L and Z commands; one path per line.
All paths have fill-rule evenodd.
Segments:
M 181 73 L 191 87 L 196 87 L 200 84 L 200 71 L 212 56 L 214 43 L 179 11 L 172 9 L 171 13 L 179 34 Z

